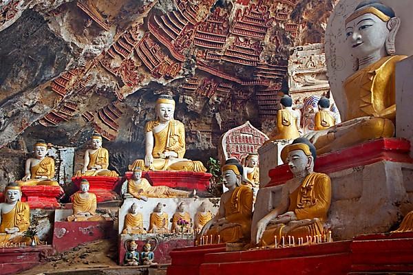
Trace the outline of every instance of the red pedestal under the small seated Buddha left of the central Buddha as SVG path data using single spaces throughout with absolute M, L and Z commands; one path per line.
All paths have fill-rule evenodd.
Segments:
M 79 188 L 82 179 L 89 181 L 89 192 L 96 195 L 98 202 L 119 199 L 119 195 L 114 190 L 120 184 L 120 177 L 72 177 L 72 181 L 77 188 Z

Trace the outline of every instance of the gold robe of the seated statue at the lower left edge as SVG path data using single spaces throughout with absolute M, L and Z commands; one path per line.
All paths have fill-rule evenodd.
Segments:
M 19 233 L 28 230 L 30 226 L 30 207 L 27 202 L 17 201 L 16 205 L 10 212 L 1 213 L 0 223 L 0 243 L 26 243 L 30 245 L 30 238 L 17 235 L 7 234 L 6 228 L 19 228 Z

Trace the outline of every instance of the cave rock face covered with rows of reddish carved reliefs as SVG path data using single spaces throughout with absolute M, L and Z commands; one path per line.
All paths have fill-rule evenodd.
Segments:
M 6 1 L 0 10 L 1 150 L 21 155 L 43 138 L 83 152 L 98 131 L 112 168 L 124 173 L 143 157 L 145 121 L 154 118 L 158 94 L 166 93 L 186 126 L 186 157 L 206 163 L 216 157 L 220 135 L 246 120 L 271 131 L 289 49 L 324 43 L 334 4 Z M 8 159 L 14 170 L 1 166 L 7 174 L 1 179 L 21 177 L 23 162 Z

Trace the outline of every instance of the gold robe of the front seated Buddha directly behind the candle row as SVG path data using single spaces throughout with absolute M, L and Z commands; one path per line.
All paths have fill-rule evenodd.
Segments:
M 262 236 L 261 245 L 273 244 L 274 236 L 277 236 L 278 241 L 282 239 L 282 236 L 294 236 L 295 239 L 302 237 L 306 240 L 306 236 L 325 233 L 324 222 L 331 203 L 331 181 L 328 175 L 323 173 L 307 175 L 301 185 L 289 195 L 289 198 L 288 212 L 295 212 L 297 220 L 317 218 L 318 221 L 295 228 L 286 234 L 282 234 L 282 228 L 286 224 L 268 225 Z

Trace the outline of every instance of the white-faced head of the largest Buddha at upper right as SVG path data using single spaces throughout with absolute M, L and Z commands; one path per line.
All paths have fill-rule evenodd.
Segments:
M 394 10 L 380 1 L 368 0 L 357 5 L 346 19 L 346 43 L 357 60 L 356 69 L 396 52 L 394 42 L 400 22 Z

